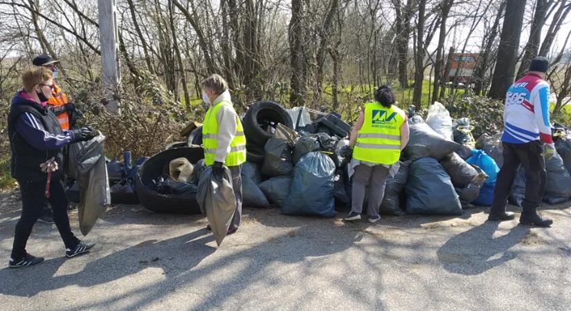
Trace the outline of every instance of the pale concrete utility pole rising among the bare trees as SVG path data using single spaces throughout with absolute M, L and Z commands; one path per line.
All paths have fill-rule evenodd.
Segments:
M 120 113 L 118 85 L 120 68 L 118 58 L 118 29 L 116 0 L 98 0 L 99 41 L 101 44 L 101 79 L 107 100 L 107 109 Z

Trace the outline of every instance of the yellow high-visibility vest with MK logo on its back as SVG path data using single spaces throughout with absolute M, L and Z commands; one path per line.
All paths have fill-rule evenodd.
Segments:
M 377 164 L 394 164 L 401 157 L 401 125 L 406 115 L 399 107 L 365 104 L 363 126 L 359 130 L 353 158 Z

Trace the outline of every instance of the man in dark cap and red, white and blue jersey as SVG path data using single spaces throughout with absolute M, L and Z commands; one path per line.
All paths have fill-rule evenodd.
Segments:
M 535 57 L 529 64 L 529 73 L 507 90 L 504 108 L 504 133 L 502 135 L 504 164 L 498 173 L 489 221 L 515 218 L 506 211 L 507 197 L 514 185 L 518 169 L 525 169 L 525 198 L 520 223 L 549 227 L 553 220 L 541 218 L 537 207 L 545 192 L 545 159 L 555 154 L 549 118 L 549 84 L 545 73 L 549 62 L 545 57 Z

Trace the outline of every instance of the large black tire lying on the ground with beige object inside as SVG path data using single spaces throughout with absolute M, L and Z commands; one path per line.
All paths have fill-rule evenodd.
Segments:
M 200 214 L 196 194 L 159 194 L 154 190 L 152 180 L 168 173 L 170 161 L 181 157 L 196 163 L 204 158 L 204 151 L 197 146 L 168 149 L 141 165 L 135 178 L 135 191 L 141 205 L 156 213 Z

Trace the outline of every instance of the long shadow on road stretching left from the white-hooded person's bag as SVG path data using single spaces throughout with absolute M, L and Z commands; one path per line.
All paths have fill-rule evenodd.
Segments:
M 39 292 L 68 285 L 89 288 L 136 274 L 147 267 L 161 267 L 167 278 L 175 277 L 215 252 L 215 247 L 206 245 L 212 241 L 214 238 L 206 229 L 164 241 L 149 240 L 98 258 L 87 263 L 82 271 L 63 276 L 55 274 L 66 261 L 65 258 L 54 258 L 42 265 L 21 270 L 6 267 L 0 270 L 0 279 L 3 280 L 0 294 L 35 296 Z M 37 282 L 30 283 L 30 274 Z

